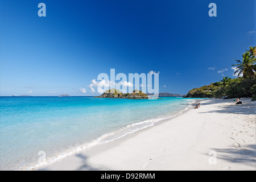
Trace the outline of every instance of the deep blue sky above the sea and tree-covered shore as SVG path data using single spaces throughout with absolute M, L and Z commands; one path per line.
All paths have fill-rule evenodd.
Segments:
M 1 96 L 97 95 L 89 85 L 111 68 L 160 72 L 159 92 L 186 94 L 233 78 L 256 44 L 254 0 L 1 0 L 0 14 Z

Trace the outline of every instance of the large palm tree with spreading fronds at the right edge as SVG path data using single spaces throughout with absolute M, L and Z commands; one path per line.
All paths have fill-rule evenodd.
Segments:
M 243 53 L 243 60 L 236 60 L 237 64 L 233 64 L 232 66 L 237 66 L 237 71 L 234 72 L 236 74 L 238 72 L 238 77 L 243 73 L 243 77 L 252 77 L 255 76 L 253 70 L 255 69 L 255 57 L 250 57 L 250 52 Z

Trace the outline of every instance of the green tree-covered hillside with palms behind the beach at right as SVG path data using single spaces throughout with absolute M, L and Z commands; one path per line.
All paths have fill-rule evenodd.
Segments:
M 190 90 L 185 97 L 194 98 L 237 98 L 251 97 L 252 101 L 256 100 L 256 65 L 255 51 L 256 46 L 250 47 L 250 50 L 243 53 L 243 60 L 235 60 L 237 64 L 238 76 L 242 77 L 231 79 L 223 77 L 220 82 L 214 82 L 210 85 L 201 86 Z

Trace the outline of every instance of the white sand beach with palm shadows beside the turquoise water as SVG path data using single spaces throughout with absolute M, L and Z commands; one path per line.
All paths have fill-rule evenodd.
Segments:
M 199 109 L 41 170 L 256 170 L 255 101 L 241 101 L 200 101 Z

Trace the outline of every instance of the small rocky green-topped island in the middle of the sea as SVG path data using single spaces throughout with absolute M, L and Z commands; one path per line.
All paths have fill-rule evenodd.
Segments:
M 96 96 L 100 98 L 130 98 L 130 99 L 145 99 L 148 98 L 146 93 L 141 90 L 133 90 L 131 93 L 122 93 L 117 89 L 106 90 L 101 96 Z

